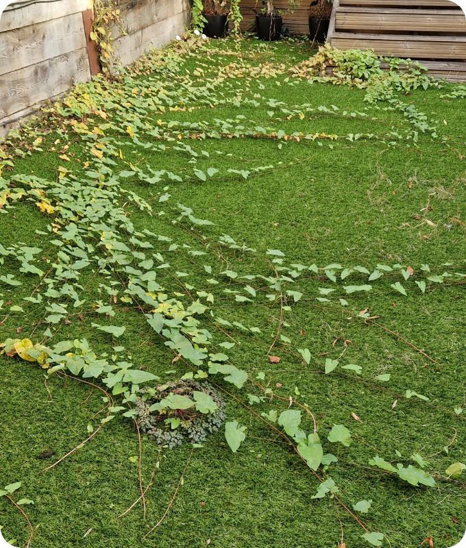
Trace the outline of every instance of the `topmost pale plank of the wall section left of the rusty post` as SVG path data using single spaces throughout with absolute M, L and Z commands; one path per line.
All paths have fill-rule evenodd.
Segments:
M 58 19 L 77 12 L 84 12 L 92 8 L 92 0 L 60 0 L 56 2 L 34 3 L 20 9 L 16 2 L 7 6 L 0 17 L 0 32 L 27 27 Z

